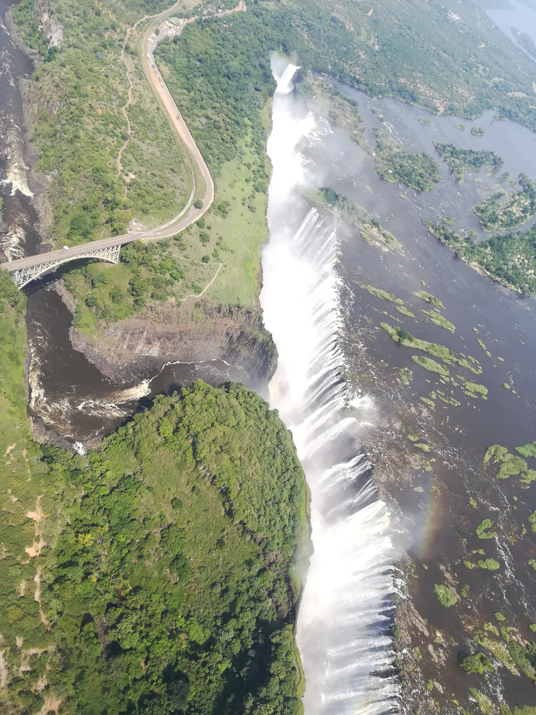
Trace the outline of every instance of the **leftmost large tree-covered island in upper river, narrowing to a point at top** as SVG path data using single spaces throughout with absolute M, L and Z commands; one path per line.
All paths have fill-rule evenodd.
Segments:
M 398 142 L 374 127 L 376 169 L 388 182 L 403 182 L 419 191 L 430 191 L 440 181 L 440 167 L 426 152 L 407 152 Z

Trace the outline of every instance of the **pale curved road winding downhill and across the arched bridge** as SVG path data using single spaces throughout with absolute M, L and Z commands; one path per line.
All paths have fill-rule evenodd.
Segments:
M 174 9 L 179 5 L 181 0 L 177 2 L 173 7 L 169 8 L 165 12 L 159 14 L 159 15 L 154 15 L 152 16 L 153 19 L 166 19 L 167 17 L 171 16 L 173 14 Z M 219 13 L 219 15 L 224 15 L 229 12 L 234 12 L 234 11 L 245 11 L 246 10 L 246 4 L 244 0 L 240 0 L 239 4 L 234 10 L 227 10 L 223 13 Z M 146 19 L 146 18 L 143 18 Z M 195 19 L 195 18 L 194 18 Z M 139 20 L 141 21 L 141 20 Z M 138 21 L 138 22 L 139 22 Z M 138 23 L 136 23 L 138 24 Z M 144 232 L 139 232 L 139 233 L 127 233 L 123 236 L 112 236 L 111 238 L 104 238 L 99 241 L 91 241 L 89 243 L 84 243 L 79 246 L 73 246 L 69 248 L 68 250 L 61 249 L 58 251 L 50 251 L 47 253 L 39 253 L 37 255 L 33 256 L 26 256 L 24 258 L 19 258 L 15 261 L 8 261 L 5 263 L 0 264 L 1 268 L 6 268 L 7 270 L 14 271 L 18 270 L 21 268 L 29 268 L 34 265 L 39 265 L 40 263 L 50 262 L 50 261 L 61 261 L 62 263 L 65 263 L 69 260 L 73 260 L 77 256 L 87 253 L 88 251 L 94 251 L 98 250 L 99 248 L 106 248 L 110 246 L 116 246 L 116 245 L 122 245 L 125 243 L 130 243 L 132 241 L 138 241 L 140 239 L 145 239 L 145 240 L 156 240 L 160 238 L 167 238 L 169 236 L 172 236 L 179 231 L 182 231 L 184 228 L 192 224 L 194 221 L 197 221 L 197 219 L 204 214 L 205 211 L 210 207 L 212 202 L 214 201 L 214 181 L 212 180 L 212 176 L 209 172 L 209 167 L 207 167 L 207 164 L 205 160 L 202 157 L 201 152 L 199 151 L 197 144 L 194 142 L 194 137 L 192 137 L 192 134 L 190 134 L 190 131 L 187 127 L 186 122 L 184 122 L 184 119 L 182 118 L 182 114 L 179 112 L 179 108 L 177 107 L 177 104 L 175 104 L 174 99 L 172 95 L 169 92 L 169 89 L 167 89 L 166 83 L 164 82 L 164 79 L 160 77 L 160 74 L 156 74 L 154 69 L 151 66 L 151 63 L 149 61 L 149 58 L 147 57 L 147 54 L 149 54 L 149 57 L 152 58 L 152 51 L 154 49 L 154 46 L 156 42 L 153 40 L 152 41 L 152 29 L 154 29 L 154 25 L 150 25 L 147 31 L 144 34 L 143 41 L 142 41 L 142 48 L 143 48 L 143 53 L 142 53 L 142 66 L 144 69 L 144 74 L 145 77 L 147 78 L 147 81 L 149 82 L 155 96 L 157 97 L 157 101 L 160 104 L 160 107 L 164 110 L 164 112 L 167 114 L 167 117 L 169 119 L 170 124 L 172 125 L 173 129 L 175 132 L 177 132 L 177 135 L 180 137 L 182 144 L 184 147 L 187 149 L 187 155 L 191 162 L 194 162 L 194 164 L 197 166 L 197 172 L 199 174 L 198 179 L 202 178 L 204 181 L 205 185 L 205 192 L 204 192 L 204 197 L 202 199 L 203 201 L 203 207 L 201 209 L 195 209 L 191 204 L 192 204 L 192 199 L 194 198 L 194 191 L 195 191 L 195 173 L 194 173 L 194 167 L 192 167 L 192 179 L 194 181 L 194 188 L 192 189 L 192 194 L 189 197 L 189 201 L 187 203 L 187 206 L 182 210 L 182 212 L 174 217 L 171 221 L 168 221 L 164 223 L 161 226 L 158 226 L 154 229 L 147 230 Z M 189 210 L 188 210 L 189 209 Z M 185 218 L 182 218 L 184 214 L 187 212 L 187 216 Z

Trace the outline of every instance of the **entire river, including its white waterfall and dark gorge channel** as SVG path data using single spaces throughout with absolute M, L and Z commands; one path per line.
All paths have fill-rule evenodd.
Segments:
M 6 7 L 2 0 L 2 14 Z M 2 238 L 4 253 L 13 258 L 39 246 L 17 87 L 32 66 L 3 27 L 0 56 L 0 112 L 7 143 L 6 156 L 0 156 L 0 193 L 9 227 Z M 474 230 L 477 240 L 484 239 L 472 206 L 480 203 L 479 190 L 497 181 L 485 171 L 468 172 L 464 184 L 458 184 L 435 152 L 434 140 L 495 151 L 514 179 L 520 172 L 536 178 L 535 134 L 495 118 L 493 112 L 457 129 L 455 118 L 339 85 L 359 102 L 371 147 L 372 127 L 377 126 L 408 149 L 437 159 L 442 180 L 424 194 L 384 182 L 374 158 L 314 107 L 309 114 L 304 101 L 285 89 L 290 89 L 291 77 L 284 78 L 284 68 L 276 71 L 282 92 L 275 102 L 287 124 L 274 134 L 274 114 L 269 153 L 280 181 L 272 177 L 272 239 L 263 256 L 261 300 L 281 355 L 270 400 L 294 431 L 313 492 L 315 551 L 297 633 L 308 678 L 306 713 L 354 712 L 358 707 L 366 713 L 384 712 L 399 697 L 397 670 L 407 683 L 417 684 L 417 696 L 426 690 L 425 683 L 432 684 L 432 697 L 441 706 L 453 699 L 471 706 L 468 685 L 495 701 L 502 694 L 510 706 L 536 705 L 530 679 L 511 674 L 499 661 L 487 680 L 468 676 L 457 664 L 460 651 L 475 651 L 475 629 L 484 621 L 500 625 L 495 613 L 502 613 L 507 626 L 527 642 L 532 640 L 529 626 L 536 623 L 535 572 L 527 565 L 528 558 L 536 557 L 528 521 L 536 509 L 535 487 L 525 489 L 515 476 L 497 481 L 497 467 L 482 465 L 489 445 L 498 443 L 512 452 L 536 440 L 536 302 L 471 270 L 422 224 L 423 218 L 453 217 L 455 230 Z M 470 134 L 472 124 L 484 129 L 482 137 Z M 404 253 L 370 246 L 344 223 L 322 223 L 301 197 L 302 189 L 322 186 L 333 187 L 379 218 L 402 242 Z M 292 201 L 289 191 L 294 192 Z M 357 281 L 392 292 L 416 317 L 397 313 L 393 302 L 371 295 Z M 414 295 L 423 287 L 445 306 L 455 332 L 433 325 L 421 312 L 430 309 Z M 159 392 L 196 377 L 214 384 L 246 381 L 243 371 L 224 363 L 177 364 L 119 390 L 71 347 L 71 315 L 46 280 L 29 290 L 27 316 L 32 409 L 48 429 L 79 450 L 143 409 Z M 415 351 L 394 342 L 379 322 L 472 355 L 482 374 L 453 367 L 450 376 L 459 372 L 463 380 L 482 383 L 487 400 L 466 395 L 461 379 L 447 389 L 439 375 L 415 365 Z M 490 358 L 477 340 L 485 343 Z M 404 368 L 412 370 L 407 386 L 399 377 Z M 437 397 L 451 390 L 459 405 L 444 405 Z M 431 393 L 433 411 L 420 400 L 430 400 Z M 428 451 L 413 446 L 407 435 L 418 435 Z M 534 460 L 527 461 L 535 468 Z M 485 518 L 492 520 L 498 536 L 484 542 L 475 530 Z M 522 524 L 528 533 L 521 537 Z M 414 562 L 408 591 L 397 570 L 403 570 L 397 561 L 403 549 Z M 464 565 L 475 565 L 480 550 L 500 563 L 497 571 Z M 448 609 L 434 593 L 435 584 L 445 583 L 458 598 Z M 392 606 L 399 599 L 405 603 L 408 595 L 427 621 L 427 635 L 414 634 L 395 653 Z M 411 676 L 409 665 L 415 666 Z M 412 681 L 417 671 L 421 681 Z M 406 684 L 406 691 L 410 689 Z

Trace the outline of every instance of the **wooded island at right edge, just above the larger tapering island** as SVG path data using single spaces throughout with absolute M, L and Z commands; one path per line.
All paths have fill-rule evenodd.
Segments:
M 507 192 L 500 189 L 486 197 L 482 204 L 473 207 L 485 231 L 515 228 L 535 214 L 535 182 L 526 174 L 520 174 L 520 184 L 522 191 Z

